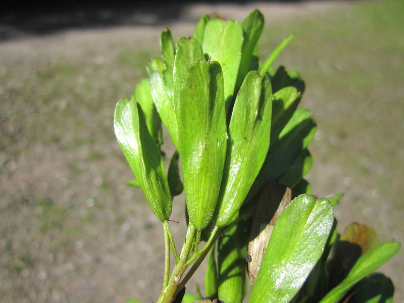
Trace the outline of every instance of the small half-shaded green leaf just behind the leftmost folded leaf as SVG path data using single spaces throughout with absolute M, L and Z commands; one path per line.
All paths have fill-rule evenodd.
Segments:
M 153 103 L 153 97 L 151 96 L 150 85 L 147 79 L 142 79 L 136 85 L 135 97 L 137 103 L 140 104 L 142 108 L 148 132 L 158 145 L 162 145 L 161 119 Z

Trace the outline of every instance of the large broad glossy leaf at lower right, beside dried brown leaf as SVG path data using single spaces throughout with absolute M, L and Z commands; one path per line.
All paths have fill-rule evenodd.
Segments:
M 328 200 L 295 198 L 275 223 L 248 301 L 289 302 L 321 257 L 332 222 Z

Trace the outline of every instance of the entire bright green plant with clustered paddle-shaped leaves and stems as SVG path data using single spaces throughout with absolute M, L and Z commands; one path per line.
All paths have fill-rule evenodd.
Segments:
M 310 194 L 304 176 L 312 165 L 308 144 L 316 123 L 309 110 L 297 109 L 305 84 L 298 73 L 272 67 L 293 35 L 261 63 L 263 27 L 256 10 L 242 23 L 206 15 L 193 37 L 177 43 L 167 29 L 162 59 L 149 61 L 149 78 L 116 107 L 115 133 L 136 176 L 132 184 L 142 188 L 164 226 L 158 302 L 203 298 L 184 294 L 184 285 L 212 247 L 204 297 L 241 302 L 248 272 L 249 302 L 370 302 L 375 296 L 364 296 L 369 285 L 389 298 L 388 278 L 365 277 L 400 244 L 379 244 L 359 224 L 339 238 L 332 210 L 340 195 Z M 162 123 L 177 149 L 167 173 Z M 183 189 L 188 230 L 178 254 L 168 219 L 173 196 Z M 171 249 L 176 266 L 170 276 Z

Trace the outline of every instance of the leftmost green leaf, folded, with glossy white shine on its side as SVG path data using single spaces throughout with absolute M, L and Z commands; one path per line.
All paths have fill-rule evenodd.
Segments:
M 147 130 L 135 96 L 121 99 L 115 109 L 115 135 L 147 203 L 160 221 L 171 214 L 172 196 L 160 149 Z

